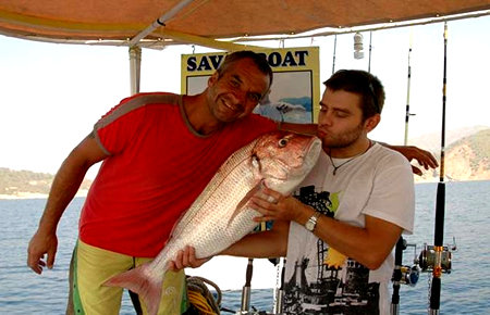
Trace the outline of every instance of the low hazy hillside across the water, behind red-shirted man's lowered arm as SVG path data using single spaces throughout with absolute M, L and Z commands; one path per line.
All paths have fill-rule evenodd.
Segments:
M 46 197 L 53 178 L 52 174 L 0 167 L 0 199 Z M 90 185 L 91 180 L 84 179 L 77 194 L 86 194 Z

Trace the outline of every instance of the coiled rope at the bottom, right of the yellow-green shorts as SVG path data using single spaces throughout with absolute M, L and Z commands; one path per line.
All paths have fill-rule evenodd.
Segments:
M 206 284 L 216 289 L 218 293 L 216 300 Z M 200 314 L 220 314 L 219 305 L 221 303 L 221 290 L 215 282 L 203 277 L 187 277 L 187 295 L 191 304 L 193 304 Z

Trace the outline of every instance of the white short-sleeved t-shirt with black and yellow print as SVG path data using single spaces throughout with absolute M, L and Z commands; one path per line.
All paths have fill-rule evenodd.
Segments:
M 399 152 L 375 143 L 366 153 L 333 159 L 322 152 L 295 197 L 324 215 L 364 227 L 365 215 L 412 234 L 414 177 Z M 345 164 L 343 164 L 345 163 Z M 336 269 L 324 263 L 329 245 L 296 223 L 289 235 L 284 314 L 389 314 L 394 257 L 376 270 L 346 259 Z

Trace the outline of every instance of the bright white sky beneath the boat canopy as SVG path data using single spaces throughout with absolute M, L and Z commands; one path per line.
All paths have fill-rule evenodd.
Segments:
M 490 16 L 448 23 L 446 130 L 490 126 Z M 441 133 L 443 23 L 363 33 L 365 58 L 353 56 L 353 34 L 336 40 L 334 68 L 368 70 L 384 85 L 381 124 L 371 138 L 403 143 L 412 42 L 408 136 Z M 334 37 L 267 47 L 320 47 L 320 79 L 333 67 Z M 144 49 L 140 91 L 180 92 L 181 54 L 192 46 Z M 59 45 L 0 36 L 0 167 L 56 173 L 97 119 L 130 96 L 127 48 Z M 321 92 L 323 86 L 321 86 Z M 97 167 L 87 175 L 94 178 Z

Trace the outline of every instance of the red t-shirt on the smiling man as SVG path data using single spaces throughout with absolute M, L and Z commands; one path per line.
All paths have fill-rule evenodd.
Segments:
M 82 241 L 154 257 L 172 227 L 234 151 L 275 129 L 249 115 L 200 136 L 183 114 L 182 96 L 143 93 L 123 100 L 95 125 L 110 154 L 94 180 L 79 222 Z

